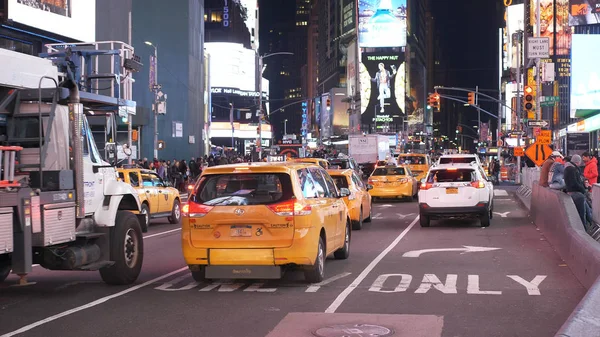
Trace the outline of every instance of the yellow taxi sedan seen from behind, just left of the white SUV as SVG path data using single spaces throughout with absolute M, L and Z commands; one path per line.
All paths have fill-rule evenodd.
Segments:
M 373 198 L 411 198 L 418 193 L 418 181 L 407 166 L 377 167 L 369 177 Z

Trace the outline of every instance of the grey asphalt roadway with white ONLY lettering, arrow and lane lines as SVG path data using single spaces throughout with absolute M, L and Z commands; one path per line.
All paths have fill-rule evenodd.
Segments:
M 300 272 L 198 284 L 178 227 L 155 223 L 134 286 L 40 267 L 33 285 L 11 286 L 11 276 L 0 285 L 0 337 L 552 336 L 585 289 L 514 196 L 498 190 L 495 203 L 489 228 L 421 228 L 416 202 L 379 202 L 350 258 L 327 261 L 322 285 Z

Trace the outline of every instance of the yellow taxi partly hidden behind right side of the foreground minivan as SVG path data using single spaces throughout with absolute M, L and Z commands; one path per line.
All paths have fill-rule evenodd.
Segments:
M 353 230 L 361 230 L 363 221 L 371 222 L 371 195 L 369 190 L 373 187 L 365 184 L 352 169 L 327 170 L 333 178 L 338 189 L 347 188 L 350 195 L 344 202 L 350 213 Z

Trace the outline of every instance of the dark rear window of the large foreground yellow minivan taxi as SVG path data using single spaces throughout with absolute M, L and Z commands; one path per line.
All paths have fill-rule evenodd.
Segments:
M 193 201 L 208 206 L 268 205 L 293 195 L 287 174 L 219 174 L 202 178 Z

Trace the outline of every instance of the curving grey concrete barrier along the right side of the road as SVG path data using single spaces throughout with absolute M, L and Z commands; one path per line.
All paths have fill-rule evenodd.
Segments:
M 577 208 L 566 193 L 533 184 L 530 214 L 575 277 L 588 289 L 556 336 L 600 336 L 600 244 L 585 232 Z

